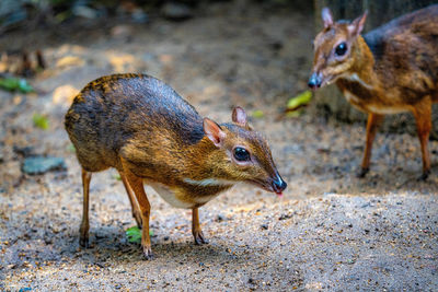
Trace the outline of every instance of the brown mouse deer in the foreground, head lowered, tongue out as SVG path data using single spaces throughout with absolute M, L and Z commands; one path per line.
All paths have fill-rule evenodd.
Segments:
M 143 183 L 171 206 L 193 210 L 195 243 L 206 243 L 198 208 L 235 183 L 281 195 L 286 188 L 266 140 L 241 107 L 232 122 L 203 118 L 169 85 L 145 74 L 114 74 L 90 82 L 66 115 L 66 129 L 82 166 L 83 217 L 80 244 L 89 244 L 89 187 L 93 172 L 120 174 L 146 258 L 150 203 Z

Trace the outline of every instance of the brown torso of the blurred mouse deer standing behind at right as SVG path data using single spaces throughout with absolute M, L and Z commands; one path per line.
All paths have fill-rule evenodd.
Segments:
M 437 95 L 438 4 L 402 15 L 364 38 L 385 89 L 396 89 L 407 103 Z

